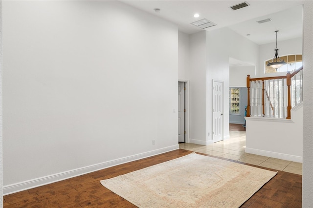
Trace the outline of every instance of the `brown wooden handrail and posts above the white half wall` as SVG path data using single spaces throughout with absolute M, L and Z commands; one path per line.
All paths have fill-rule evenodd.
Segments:
M 300 72 L 303 69 L 303 66 L 298 68 L 297 70 L 293 71 L 292 73 L 287 72 L 286 76 L 277 76 L 277 77 L 262 77 L 262 78 L 250 78 L 250 75 L 247 76 L 246 78 L 246 87 L 248 89 L 248 103 L 246 106 L 246 117 L 250 117 L 250 81 L 265 81 L 265 80 L 276 80 L 276 79 L 286 79 L 287 83 L 287 94 L 288 94 L 288 106 L 287 106 L 287 118 L 286 119 L 291 119 L 291 92 L 290 92 L 290 86 L 291 86 L 291 78 L 296 75 L 298 72 Z M 262 110 L 263 110 L 263 115 L 264 115 L 264 82 L 262 85 Z M 271 105 L 271 107 L 273 107 Z

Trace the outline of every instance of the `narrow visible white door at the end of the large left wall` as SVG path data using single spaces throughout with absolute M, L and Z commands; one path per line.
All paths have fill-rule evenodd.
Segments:
M 185 87 L 178 83 L 178 141 L 185 142 Z

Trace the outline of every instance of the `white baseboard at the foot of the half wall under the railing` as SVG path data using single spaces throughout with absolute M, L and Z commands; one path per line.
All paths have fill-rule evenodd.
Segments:
M 289 154 L 283 154 L 283 153 L 278 153 L 278 152 L 270 152 L 270 151 L 265 151 L 261 149 L 253 149 L 253 148 L 247 148 L 247 147 L 246 147 L 246 153 L 302 163 L 302 157 L 296 156 L 296 155 L 289 155 Z

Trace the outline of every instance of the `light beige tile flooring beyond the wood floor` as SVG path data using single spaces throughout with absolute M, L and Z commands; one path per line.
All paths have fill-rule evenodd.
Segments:
M 229 131 L 229 134 L 230 139 L 212 145 L 181 143 L 179 148 L 302 175 L 302 163 L 248 154 L 245 152 L 246 132 Z

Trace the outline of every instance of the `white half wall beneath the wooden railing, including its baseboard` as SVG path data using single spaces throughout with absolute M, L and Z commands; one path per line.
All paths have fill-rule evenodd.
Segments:
M 302 163 L 303 105 L 291 109 L 291 120 L 246 117 L 246 152 Z

